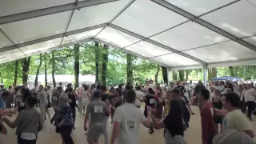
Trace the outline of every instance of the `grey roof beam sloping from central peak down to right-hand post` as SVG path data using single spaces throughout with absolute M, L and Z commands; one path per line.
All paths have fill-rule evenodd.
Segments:
M 165 46 L 159 42 L 155 42 L 149 38 L 146 38 L 146 37 L 143 37 L 142 35 L 139 35 L 139 34 L 135 34 L 134 32 L 131 32 L 130 30 L 126 30 L 126 29 L 123 29 L 122 27 L 120 26 L 116 26 L 114 24 L 109 24 L 109 26 L 115 30 L 119 30 L 119 31 L 122 31 L 123 33 L 126 33 L 126 34 L 130 34 L 131 36 L 134 36 L 135 38 L 139 38 L 141 39 L 142 41 L 146 41 L 146 42 L 149 42 L 155 46 L 159 46 L 159 47 L 162 47 L 163 49 L 166 49 L 166 50 L 170 50 L 171 52 L 173 53 L 176 53 L 176 54 L 180 54 L 182 55 L 183 57 L 186 57 L 186 58 L 190 58 L 192 60 L 194 60 L 195 62 L 199 62 L 199 63 L 202 63 L 203 65 L 206 65 L 206 62 L 202 61 L 201 59 L 198 59 L 198 58 L 194 58 L 193 56 L 190 56 L 189 54 L 185 54 L 181 51 L 178 51 L 178 50 L 175 50 L 169 46 Z

